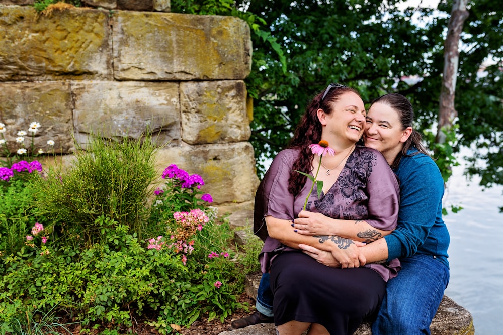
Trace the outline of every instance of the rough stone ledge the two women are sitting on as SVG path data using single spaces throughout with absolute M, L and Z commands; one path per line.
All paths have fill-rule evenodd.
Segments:
M 257 299 L 257 289 L 259 287 L 261 274 L 254 273 L 246 276 L 246 294 Z M 451 298 L 444 295 L 440 303 L 437 314 L 430 325 L 432 335 L 474 335 L 473 318 L 471 314 Z M 274 324 L 256 324 L 253 326 L 221 332 L 219 335 L 266 335 L 275 334 Z M 372 335 L 370 323 L 362 324 L 355 335 Z

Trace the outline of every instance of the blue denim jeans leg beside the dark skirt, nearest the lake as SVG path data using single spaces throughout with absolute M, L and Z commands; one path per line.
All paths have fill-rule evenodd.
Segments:
M 400 259 L 402 269 L 386 285 L 372 335 L 430 334 L 449 283 L 449 269 L 431 255 Z

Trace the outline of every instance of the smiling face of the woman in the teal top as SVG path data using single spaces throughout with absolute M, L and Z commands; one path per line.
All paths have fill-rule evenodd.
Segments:
M 379 150 L 388 164 L 393 163 L 411 133 L 412 127 L 403 129 L 398 112 L 390 105 L 376 102 L 370 106 L 363 137 L 365 146 Z

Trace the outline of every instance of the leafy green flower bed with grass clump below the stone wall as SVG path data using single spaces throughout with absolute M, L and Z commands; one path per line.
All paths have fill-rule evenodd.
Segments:
M 177 333 L 247 308 L 253 253 L 233 246 L 203 178 L 156 175 L 154 153 L 148 135 L 93 136 L 67 168 L 1 168 L 0 335 L 67 333 L 60 316 L 81 333 L 134 333 L 138 319 Z

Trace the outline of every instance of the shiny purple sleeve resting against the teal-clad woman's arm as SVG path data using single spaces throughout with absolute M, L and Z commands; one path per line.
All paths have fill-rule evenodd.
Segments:
M 365 221 L 374 228 L 389 231 L 397 225 L 400 188 L 386 159 L 380 152 L 374 151 L 376 160 L 367 184 L 369 219 Z

